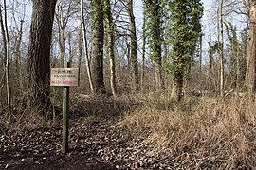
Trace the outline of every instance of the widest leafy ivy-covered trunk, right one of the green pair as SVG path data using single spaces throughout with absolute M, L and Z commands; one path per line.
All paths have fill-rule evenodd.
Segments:
M 169 43 L 173 45 L 170 54 L 170 71 L 173 76 L 172 99 L 181 101 L 185 69 L 189 68 L 199 42 L 200 19 L 203 7 L 200 0 L 174 0 L 164 4 L 171 14 L 171 26 L 167 30 Z

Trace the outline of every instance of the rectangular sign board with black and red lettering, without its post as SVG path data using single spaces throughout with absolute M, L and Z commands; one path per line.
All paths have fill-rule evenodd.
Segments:
M 50 86 L 79 86 L 79 68 L 51 68 Z

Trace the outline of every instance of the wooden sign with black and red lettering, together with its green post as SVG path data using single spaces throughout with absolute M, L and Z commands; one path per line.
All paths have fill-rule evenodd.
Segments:
M 63 92 L 63 153 L 68 152 L 68 120 L 69 120 L 69 87 L 79 85 L 79 68 L 69 68 L 70 63 L 64 62 L 64 68 L 52 68 L 50 86 L 64 87 Z

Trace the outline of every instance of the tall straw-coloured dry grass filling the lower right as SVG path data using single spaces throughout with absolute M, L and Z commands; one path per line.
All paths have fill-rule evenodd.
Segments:
M 246 98 L 225 102 L 148 97 L 120 126 L 144 137 L 148 155 L 161 155 L 174 168 L 251 168 L 256 162 L 256 105 Z M 162 101 L 161 101 L 162 100 Z M 160 107 L 159 107 L 160 106 Z

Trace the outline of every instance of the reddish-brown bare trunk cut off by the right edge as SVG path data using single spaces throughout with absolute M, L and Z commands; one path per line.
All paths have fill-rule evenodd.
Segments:
M 247 92 L 250 96 L 254 96 L 256 90 L 256 1 L 252 2 L 250 7 L 250 28 L 249 28 L 249 46 L 247 59 Z

